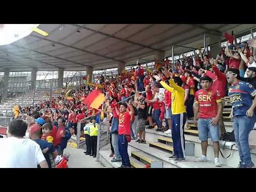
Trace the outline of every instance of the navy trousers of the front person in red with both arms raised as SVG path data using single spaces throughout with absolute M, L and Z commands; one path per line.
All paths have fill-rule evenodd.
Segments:
M 122 165 L 131 166 L 128 155 L 128 142 L 125 135 L 118 135 L 118 148 L 122 158 Z

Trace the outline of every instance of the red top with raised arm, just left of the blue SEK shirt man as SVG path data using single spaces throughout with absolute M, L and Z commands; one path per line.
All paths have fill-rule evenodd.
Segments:
M 213 91 L 214 92 L 218 91 L 220 93 L 220 97 L 224 98 L 226 95 L 226 85 L 227 85 L 226 75 L 223 74 L 216 66 L 213 66 L 212 69 L 215 74 L 212 73 L 211 71 L 207 71 L 205 75 L 213 79 L 213 84 L 212 84 Z

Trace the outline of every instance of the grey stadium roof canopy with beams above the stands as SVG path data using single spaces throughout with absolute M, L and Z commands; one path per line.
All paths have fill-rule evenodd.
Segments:
M 119 62 L 154 59 L 155 51 L 171 55 L 172 45 L 203 47 L 210 34 L 241 34 L 255 24 L 40 24 L 49 36 L 35 33 L 0 46 L 0 71 L 93 70 L 114 68 Z M 225 37 L 221 37 L 225 39 Z M 174 55 L 191 51 L 174 47 Z

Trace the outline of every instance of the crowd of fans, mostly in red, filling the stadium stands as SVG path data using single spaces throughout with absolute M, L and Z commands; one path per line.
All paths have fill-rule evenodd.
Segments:
M 226 132 L 222 110 L 224 98 L 229 96 L 240 155 L 238 167 L 253 167 L 248 137 L 255 123 L 255 60 L 256 40 L 251 39 L 241 44 L 228 42 L 218 55 L 183 55 L 174 66 L 167 58 L 155 61 L 154 70 L 138 64 L 136 69 L 123 70 L 116 77 L 101 75 L 90 86 L 81 84 L 77 90 L 63 89 L 59 97 L 20 109 L 18 119 L 29 122 L 29 137 L 39 144 L 44 155 L 49 154 L 46 158 L 49 167 L 53 166 L 54 157 L 63 154 L 71 135 L 85 137 L 85 154 L 96 157 L 100 121 L 109 122 L 110 157 L 114 157 L 112 162 L 122 161 L 121 167 L 131 167 L 127 143 L 131 140 L 146 143 L 146 127 L 172 133 L 174 153 L 170 158 L 184 161 L 183 130 L 188 128 L 188 120 L 197 125 L 202 145 L 202 156 L 195 161 L 207 161 L 210 136 L 215 166 L 221 166 L 219 140 Z M 106 97 L 99 109 L 83 103 L 83 98 L 94 89 Z M 77 135 L 78 122 L 81 135 Z

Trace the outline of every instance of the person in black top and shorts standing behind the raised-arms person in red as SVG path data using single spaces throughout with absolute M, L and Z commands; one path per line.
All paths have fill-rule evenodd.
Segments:
M 146 93 L 137 94 L 139 100 L 135 102 L 138 107 L 138 122 L 137 122 L 137 129 L 139 132 L 139 139 L 136 142 L 139 143 L 146 143 L 146 119 L 147 119 L 147 103 L 145 102 Z

